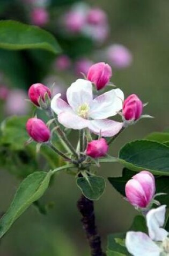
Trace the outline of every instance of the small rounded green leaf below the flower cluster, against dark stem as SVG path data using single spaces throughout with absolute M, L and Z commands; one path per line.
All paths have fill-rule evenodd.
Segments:
M 99 176 L 77 178 L 76 183 L 83 195 L 91 200 L 98 200 L 105 191 L 105 179 Z

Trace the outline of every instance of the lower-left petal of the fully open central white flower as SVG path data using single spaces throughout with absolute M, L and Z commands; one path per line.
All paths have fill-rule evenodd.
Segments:
M 58 122 L 63 124 L 64 127 L 80 130 L 88 126 L 89 120 L 83 119 L 75 113 L 62 112 L 58 114 Z

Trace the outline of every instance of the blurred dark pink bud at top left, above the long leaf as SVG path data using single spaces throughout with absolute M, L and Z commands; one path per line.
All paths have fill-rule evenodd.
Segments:
M 49 13 L 45 8 L 34 8 L 31 12 L 31 22 L 36 26 L 44 26 L 49 21 Z

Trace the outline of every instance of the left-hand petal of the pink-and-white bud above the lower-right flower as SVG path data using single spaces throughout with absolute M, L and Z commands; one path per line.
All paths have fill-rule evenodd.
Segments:
M 126 183 L 125 192 L 130 204 L 142 208 L 147 206 L 145 191 L 136 179 L 130 179 Z

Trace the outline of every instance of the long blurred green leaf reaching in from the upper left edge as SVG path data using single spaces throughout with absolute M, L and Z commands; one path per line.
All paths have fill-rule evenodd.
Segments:
M 43 49 L 60 52 L 55 37 L 40 27 L 14 20 L 0 21 L 0 48 L 7 50 Z

